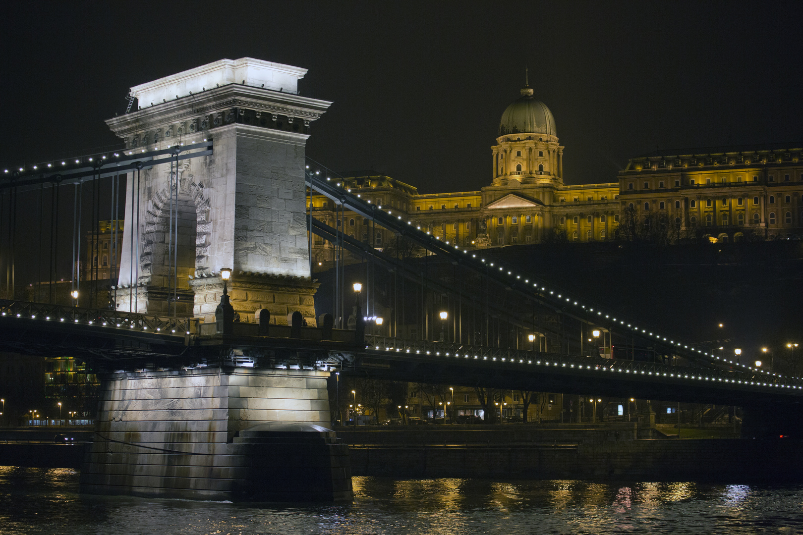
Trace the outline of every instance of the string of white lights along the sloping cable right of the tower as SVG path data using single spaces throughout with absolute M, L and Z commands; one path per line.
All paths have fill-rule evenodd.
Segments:
M 309 169 L 309 165 L 307 165 L 307 169 Z M 315 174 L 316 175 L 320 175 L 320 171 L 315 171 Z M 331 181 L 332 178 L 330 176 L 327 176 L 326 180 L 327 181 Z M 345 180 L 343 180 L 343 182 L 342 182 L 343 185 L 342 186 L 340 184 L 341 184 L 341 182 L 336 182 L 336 186 L 337 187 L 344 188 L 347 193 L 351 193 L 351 188 L 347 187 L 347 185 L 345 183 Z M 360 199 L 361 201 L 365 202 L 366 204 L 368 204 L 368 205 L 371 204 L 370 200 L 363 200 L 361 198 L 361 194 L 360 193 L 356 193 L 355 195 L 356 195 L 356 197 L 358 199 Z M 381 205 L 376 205 L 376 206 L 377 206 L 377 209 L 381 209 L 382 208 Z M 389 215 L 391 215 L 391 216 L 393 215 L 391 210 L 387 210 L 387 213 Z M 401 221 L 402 220 L 402 216 L 397 216 L 397 219 Z M 407 221 L 407 225 L 413 226 L 413 221 Z M 440 240 L 440 237 L 438 237 L 438 236 L 434 236 L 433 237 L 429 230 L 422 230 L 421 225 L 419 225 L 419 224 L 415 225 L 415 229 L 420 231 L 420 232 L 422 232 L 422 233 L 426 233 L 426 235 L 429 236 L 430 239 L 434 238 L 435 240 L 438 240 L 438 241 Z M 448 240 L 444 241 L 444 243 L 446 245 L 450 245 Z M 454 245 L 454 249 L 457 252 L 460 252 L 460 250 L 461 250 L 458 245 Z M 468 255 L 469 254 L 468 249 L 463 249 L 463 254 Z M 477 258 L 476 253 L 471 253 L 471 258 L 476 259 Z M 497 269 L 499 271 L 501 271 L 503 274 L 505 272 L 505 269 L 504 269 L 503 266 L 501 266 L 501 265 L 496 265 L 495 266 L 494 262 L 486 261 L 485 258 L 480 257 L 479 258 L 479 262 L 480 262 L 479 265 L 482 266 L 482 267 L 485 267 L 486 269 L 489 269 L 491 267 L 497 267 Z M 512 270 L 507 270 L 507 276 L 508 277 L 515 277 L 517 281 L 521 281 L 521 275 L 520 274 L 514 274 L 512 272 Z M 524 278 L 524 283 L 525 284 L 530 284 L 529 279 L 528 278 Z M 540 286 L 540 288 L 539 288 L 539 283 L 538 282 L 532 282 L 532 288 L 535 289 L 535 290 L 540 290 L 540 292 L 543 292 L 544 293 L 544 297 L 546 297 L 546 292 L 549 292 L 549 296 L 551 296 L 552 298 L 555 298 L 555 299 L 559 299 L 561 304 L 569 304 L 569 305 L 572 305 L 572 306 L 577 306 L 577 307 L 580 308 L 580 310 L 587 311 L 587 312 L 593 312 L 594 311 L 593 306 L 585 306 L 581 302 L 577 302 L 573 298 L 569 298 L 569 297 L 565 296 L 564 292 L 562 292 L 561 290 L 550 290 L 546 286 Z M 556 291 L 558 292 L 557 294 L 556 294 Z M 760 370 L 759 368 L 755 368 L 755 367 L 749 366 L 747 364 L 734 363 L 730 359 L 725 359 L 724 357 L 720 358 L 718 356 L 715 356 L 713 353 L 706 353 L 705 351 L 703 351 L 701 349 L 697 349 L 695 347 L 689 347 L 687 344 L 683 344 L 683 342 L 675 342 L 675 340 L 672 340 L 672 339 L 667 340 L 666 337 L 662 336 L 661 334 L 654 334 L 652 332 L 649 332 L 647 329 L 639 329 L 638 326 L 635 326 L 635 325 L 633 325 L 631 323 L 626 323 L 626 321 L 622 320 L 621 318 L 617 319 L 615 317 L 611 317 L 611 314 L 603 314 L 602 310 L 597 310 L 597 317 L 599 319 L 602 319 L 603 316 L 604 316 L 604 318 L 606 320 L 609 320 L 609 322 L 613 322 L 614 325 L 616 325 L 617 322 L 618 322 L 619 326 L 625 326 L 626 328 L 632 330 L 634 333 L 638 334 L 639 336 L 642 336 L 642 338 L 654 338 L 658 342 L 666 342 L 667 344 L 669 344 L 669 345 L 671 345 L 673 347 L 677 347 L 678 349 L 685 349 L 685 350 L 691 351 L 692 353 L 699 353 L 699 355 L 702 355 L 703 357 L 709 357 L 710 360 L 711 360 L 711 363 L 716 363 L 716 361 L 720 361 L 720 363 L 729 363 L 729 364 L 732 364 L 734 366 L 743 367 L 746 370 L 754 371 L 754 372 L 757 372 L 757 373 L 760 373 L 760 374 L 764 374 L 764 375 L 773 375 L 775 377 L 783 377 L 784 376 L 784 375 L 778 375 L 778 374 L 771 373 L 771 372 L 768 372 L 768 371 Z M 801 379 L 801 378 L 793 377 L 792 379 Z

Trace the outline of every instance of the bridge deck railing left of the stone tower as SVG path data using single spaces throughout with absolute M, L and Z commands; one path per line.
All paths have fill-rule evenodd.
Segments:
M 0 299 L 0 316 L 31 320 L 97 325 L 112 329 L 151 331 L 159 334 L 184 334 L 194 331 L 190 318 L 168 318 L 119 310 L 79 306 L 51 305 Z

